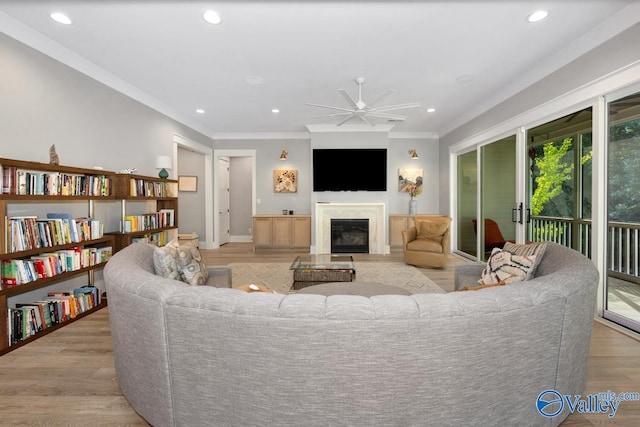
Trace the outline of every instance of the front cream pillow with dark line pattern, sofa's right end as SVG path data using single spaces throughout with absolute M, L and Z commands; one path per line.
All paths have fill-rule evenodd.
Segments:
M 520 256 L 494 248 L 478 281 L 480 285 L 512 283 L 528 280 L 535 265 L 536 255 Z

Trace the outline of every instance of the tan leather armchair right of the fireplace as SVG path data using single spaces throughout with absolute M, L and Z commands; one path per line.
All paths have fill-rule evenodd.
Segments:
M 404 262 L 418 267 L 444 267 L 451 250 L 451 218 L 416 215 L 413 220 L 415 226 L 402 232 Z

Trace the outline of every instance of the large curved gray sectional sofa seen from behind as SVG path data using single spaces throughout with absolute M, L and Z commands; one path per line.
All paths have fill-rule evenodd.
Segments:
M 188 286 L 153 250 L 105 280 L 118 384 L 157 427 L 557 425 L 538 395 L 584 388 L 598 274 L 559 245 L 528 282 L 370 298 Z

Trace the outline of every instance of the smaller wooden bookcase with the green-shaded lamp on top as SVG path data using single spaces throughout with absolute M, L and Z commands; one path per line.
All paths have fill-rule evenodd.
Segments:
M 163 246 L 178 236 L 177 180 L 116 174 L 113 184 L 121 203 L 120 229 L 107 233 L 115 238 L 114 253 L 136 241 Z M 152 209 L 134 212 L 138 202 Z

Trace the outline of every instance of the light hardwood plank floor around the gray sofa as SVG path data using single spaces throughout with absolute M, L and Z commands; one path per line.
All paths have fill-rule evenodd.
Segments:
M 289 262 L 296 255 L 254 253 L 250 244 L 238 243 L 202 252 L 208 265 Z M 402 254 L 354 258 L 360 262 L 401 261 Z M 451 291 L 455 265 L 463 262 L 452 257 L 443 270 L 422 271 L 444 290 Z M 108 315 L 108 308 L 100 310 L 0 357 L 0 426 L 147 425 L 116 384 Z M 583 396 L 608 390 L 640 392 L 640 341 L 594 322 Z M 623 402 L 614 418 L 573 414 L 563 425 L 637 426 L 640 402 Z

